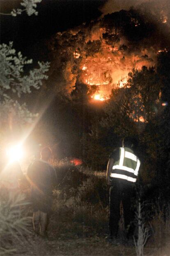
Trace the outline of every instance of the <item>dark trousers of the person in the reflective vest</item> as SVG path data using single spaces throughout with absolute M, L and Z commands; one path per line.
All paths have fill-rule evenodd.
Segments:
M 131 200 L 133 197 L 133 183 L 115 178 L 112 181 L 109 194 L 109 229 L 110 235 L 117 237 L 119 219 L 120 219 L 120 202 L 123 205 L 124 227 L 127 230 L 129 224 L 134 219 Z M 133 227 L 129 228 L 127 235 L 132 235 Z

